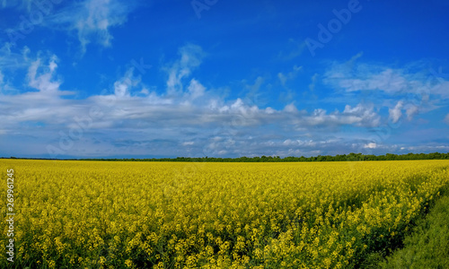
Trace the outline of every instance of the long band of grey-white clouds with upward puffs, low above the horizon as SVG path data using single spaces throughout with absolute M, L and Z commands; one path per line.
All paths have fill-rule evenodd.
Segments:
M 151 87 L 141 82 L 141 75 L 131 67 L 114 82 L 110 91 L 81 100 L 70 98 L 75 91 L 61 90 L 63 82 L 57 75 L 57 56 L 23 56 L 22 60 L 29 65 L 25 81 L 30 90 L 0 95 L 4 126 L 8 126 L 2 128 L 0 135 L 22 137 L 23 144 L 15 147 L 23 147 L 23 151 L 33 139 L 45 141 L 39 150 L 35 146 L 36 154 L 46 152 L 51 157 L 121 152 L 286 156 L 339 152 L 344 147 L 358 152 L 382 149 L 379 137 L 373 141 L 374 131 L 388 119 L 381 117 L 373 103 L 346 105 L 328 112 L 322 108 L 300 110 L 294 102 L 275 109 L 260 108 L 241 98 L 226 100 L 192 75 L 204 55 L 197 45 L 180 48 L 179 58 L 161 67 L 167 75 L 163 93 L 149 90 Z M 331 67 L 324 81 L 339 83 L 345 91 L 378 90 L 377 86 L 345 87 L 349 79 L 339 77 L 338 68 Z M 371 78 L 366 80 L 369 82 Z M 365 85 L 360 80 L 357 82 Z M 382 89 L 393 91 L 396 87 L 401 91 L 403 83 L 409 81 L 393 81 Z M 389 108 L 392 123 L 399 121 L 404 106 L 400 100 Z M 409 109 L 406 114 L 412 115 Z M 355 137 L 342 133 L 341 129 L 348 127 L 358 130 Z M 366 136 L 370 133 L 371 138 Z

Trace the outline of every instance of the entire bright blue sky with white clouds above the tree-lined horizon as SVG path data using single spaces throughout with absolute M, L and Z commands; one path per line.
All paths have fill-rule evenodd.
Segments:
M 0 156 L 449 152 L 449 2 L 0 0 Z

